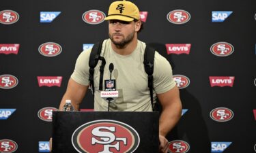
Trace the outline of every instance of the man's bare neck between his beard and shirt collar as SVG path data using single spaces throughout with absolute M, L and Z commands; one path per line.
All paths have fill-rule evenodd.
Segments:
M 115 44 L 113 44 L 113 42 L 111 42 L 111 46 L 113 48 L 113 50 L 120 55 L 128 55 L 128 54 L 132 54 L 132 52 L 135 50 L 135 48 L 137 48 L 137 44 L 138 44 L 138 40 L 134 39 L 132 41 L 130 41 L 129 44 L 126 44 L 126 46 L 124 46 L 124 48 L 118 48 L 117 46 L 115 46 Z

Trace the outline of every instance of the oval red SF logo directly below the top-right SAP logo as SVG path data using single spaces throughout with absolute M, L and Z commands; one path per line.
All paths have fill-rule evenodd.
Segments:
M 216 56 L 229 56 L 233 53 L 234 48 L 227 42 L 217 42 L 211 46 L 210 50 Z

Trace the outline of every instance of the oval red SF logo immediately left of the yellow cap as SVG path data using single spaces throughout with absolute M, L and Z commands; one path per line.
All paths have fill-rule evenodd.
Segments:
M 89 10 L 85 12 L 82 16 L 83 21 L 88 24 L 100 24 L 104 21 L 105 14 L 99 10 Z

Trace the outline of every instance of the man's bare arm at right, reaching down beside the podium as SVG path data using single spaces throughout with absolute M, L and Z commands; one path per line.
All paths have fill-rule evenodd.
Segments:
M 168 141 L 165 138 L 167 133 L 173 129 L 182 116 L 182 102 L 177 86 L 171 90 L 157 95 L 162 105 L 162 114 L 159 119 L 160 152 L 167 152 Z

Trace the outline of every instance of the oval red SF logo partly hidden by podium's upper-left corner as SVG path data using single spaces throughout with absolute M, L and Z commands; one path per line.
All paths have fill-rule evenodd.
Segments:
M 53 111 L 58 111 L 55 107 L 44 107 L 38 111 L 38 117 L 46 122 L 52 122 Z

